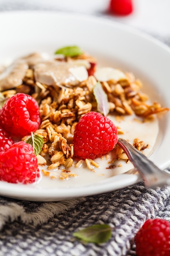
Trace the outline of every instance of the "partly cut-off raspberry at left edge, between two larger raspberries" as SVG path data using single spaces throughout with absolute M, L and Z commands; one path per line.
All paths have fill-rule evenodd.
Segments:
M 13 143 L 11 136 L 0 127 L 0 151 L 7 151 Z

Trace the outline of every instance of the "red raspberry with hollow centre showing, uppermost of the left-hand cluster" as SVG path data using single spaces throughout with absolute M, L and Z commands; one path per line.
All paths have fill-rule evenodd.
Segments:
M 23 137 L 38 129 L 40 112 L 30 95 L 17 93 L 0 109 L 0 126 L 11 136 Z

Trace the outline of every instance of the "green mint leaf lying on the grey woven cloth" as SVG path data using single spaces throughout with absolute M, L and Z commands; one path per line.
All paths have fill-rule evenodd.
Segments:
M 73 233 L 73 236 L 85 242 L 97 244 L 107 242 L 111 235 L 112 228 L 106 224 L 93 225 Z

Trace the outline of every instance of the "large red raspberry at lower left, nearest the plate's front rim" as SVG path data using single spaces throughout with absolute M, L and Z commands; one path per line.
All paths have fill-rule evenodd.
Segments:
M 40 177 L 33 147 L 24 141 L 0 152 L 0 180 L 9 183 L 33 183 Z

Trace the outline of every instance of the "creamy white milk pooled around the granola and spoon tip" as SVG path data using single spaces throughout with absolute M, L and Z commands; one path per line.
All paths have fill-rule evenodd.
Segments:
M 120 120 L 111 115 L 108 118 L 124 132 L 124 134 L 118 135 L 119 138 L 124 138 L 131 144 L 133 144 L 135 138 L 138 138 L 144 141 L 145 145 L 149 145 L 143 153 L 146 156 L 150 156 L 153 153 L 159 133 L 159 122 L 156 117 L 153 117 L 152 121 L 141 121 L 140 118 L 134 115 L 125 116 Z M 129 161 L 126 163 L 124 160 L 115 160 L 113 162 L 114 158 L 115 150 L 113 149 L 108 155 L 96 158 L 94 161 L 99 167 L 90 164 L 91 170 L 87 167 L 85 161 L 82 161 L 82 164 L 76 167 L 78 161 L 76 159 L 73 166 L 69 168 L 70 173 L 68 175 L 63 175 L 62 169 L 47 170 L 44 166 L 40 167 L 41 177 L 34 186 L 40 189 L 81 187 L 132 170 L 132 163 Z M 44 175 L 44 173 L 47 174 L 46 171 L 49 172 L 48 175 Z

